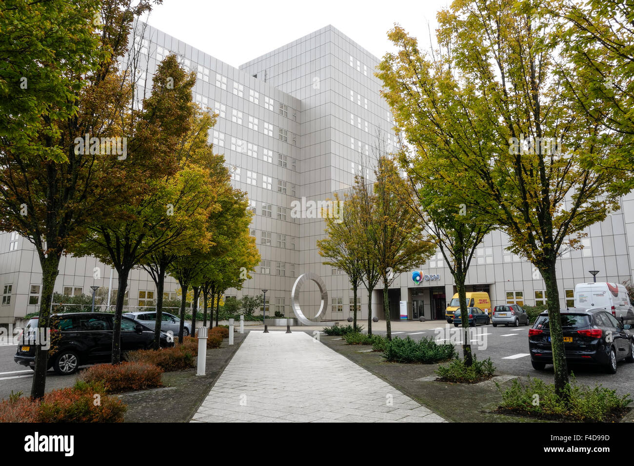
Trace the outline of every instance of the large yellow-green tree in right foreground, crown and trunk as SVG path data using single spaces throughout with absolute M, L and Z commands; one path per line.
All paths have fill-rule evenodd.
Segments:
M 557 257 L 579 247 L 631 178 L 611 163 L 615 138 L 578 111 L 572 81 L 558 74 L 564 35 L 540 11 L 531 1 L 455 2 L 438 14 L 440 51 L 423 53 L 397 26 L 389 38 L 398 51 L 385 55 L 377 76 L 414 150 L 406 164 L 426 165 L 448 186 L 448 202 L 465 205 L 472 221 L 500 226 L 510 250 L 540 271 L 563 394 Z

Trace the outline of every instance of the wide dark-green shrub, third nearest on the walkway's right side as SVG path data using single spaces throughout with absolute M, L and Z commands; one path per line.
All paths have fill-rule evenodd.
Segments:
M 433 339 L 412 340 L 396 337 L 385 342 L 383 357 L 392 363 L 435 364 L 455 358 L 456 350 L 450 343 L 437 344 Z

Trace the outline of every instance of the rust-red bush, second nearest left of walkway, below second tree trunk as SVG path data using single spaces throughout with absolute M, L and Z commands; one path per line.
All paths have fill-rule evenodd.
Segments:
M 79 380 L 86 384 L 100 383 L 106 393 L 120 393 L 160 387 L 162 373 L 158 366 L 141 361 L 98 364 L 84 370 Z

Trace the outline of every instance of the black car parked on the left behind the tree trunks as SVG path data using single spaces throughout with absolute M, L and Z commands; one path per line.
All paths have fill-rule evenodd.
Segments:
M 79 366 L 107 363 L 112 358 L 112 320 L 108 313 L 64 313 L 51 316 L 51 347 L 48 368 L 69 375 Z M 37 318 L 29 320 L 20 337 L 13 360 L 34 368 L 36 351 L 30 335 L 37 328 Z M 173 346 L 167 333 L 161 332 L 160 346 Z M 127 317 L 121 319 L 121 351 L 148 349 L 154 342 L 154 331 Z

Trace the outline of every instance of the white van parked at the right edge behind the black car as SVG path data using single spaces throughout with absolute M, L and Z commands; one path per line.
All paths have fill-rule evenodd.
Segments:
M 602 307 L 618 320 L 634 318 L 630 295 L 620 283 L 578 283 L 574 287 L 574 307 Z

